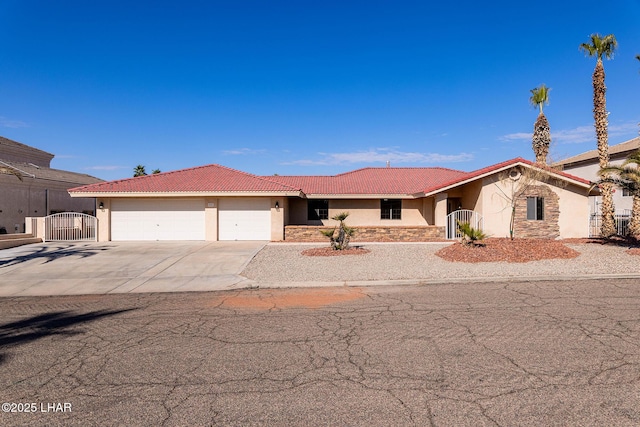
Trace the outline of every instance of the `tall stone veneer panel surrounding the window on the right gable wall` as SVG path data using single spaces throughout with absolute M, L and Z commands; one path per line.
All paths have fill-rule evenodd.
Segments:
M 544 219 L 527 219 L 527 197 L 544 197 Z M 559 198 L 546 185 L 532 185 L 516 201 L 514 236 L 516 238 L 556 239 L 560 236 Z

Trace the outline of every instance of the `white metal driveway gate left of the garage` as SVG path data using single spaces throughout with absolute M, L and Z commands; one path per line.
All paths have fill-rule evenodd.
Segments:
M 95 241 L 98 219 L 78 212 L 44 217 L 44 241 Z

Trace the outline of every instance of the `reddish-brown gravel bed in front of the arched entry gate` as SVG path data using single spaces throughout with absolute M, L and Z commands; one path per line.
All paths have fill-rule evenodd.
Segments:
M 580 255 L 557 240 L 486 239 L 485 246 L 470 247 L 461 243 L 440 249 L 436 255 L 452 262 L 529 262 L 543 259 L 570 259 Z

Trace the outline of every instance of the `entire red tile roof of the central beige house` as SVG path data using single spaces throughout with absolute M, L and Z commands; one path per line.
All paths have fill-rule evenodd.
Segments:
M 473 172 L 446 168 L 363 168 L 333 176 L 256 176 L 220 165 L 146 175 L 72 188 L 71 193 L 169 193 L 169 192 L 298 192 L 318 195 L 417 195 L 433 193 L 510 166 L 536 167 L 515 158 Z M 550 173 L 574 182 L 590 182 L 547 168 Z

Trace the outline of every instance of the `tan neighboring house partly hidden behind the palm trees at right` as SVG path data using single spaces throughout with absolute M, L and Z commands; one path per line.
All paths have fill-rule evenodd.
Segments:
M 640 149 L 640 137 L 612 145 L 609 147 L 609 163 L 614 166 L 620 165 L 627 156 L 638 151 L 638 149 Z M 560 168 L 564 172 L 579 176 L 589 181 L 596 182 L 600 179 L 598 176 L 598 171 L 600 170 L 598 150 L 591 150 L 569 157 L 568 159 L 555 163 L 553 166 Z M 592 214 L 600 213 L 600 199 L 600 196 L 592 196 L 590 198 L 590 212 Z M 613 203 L 615 205 L 616 214 L 630 214 L 633 197 L 629 192 L 617 188 L 614 189 Z

